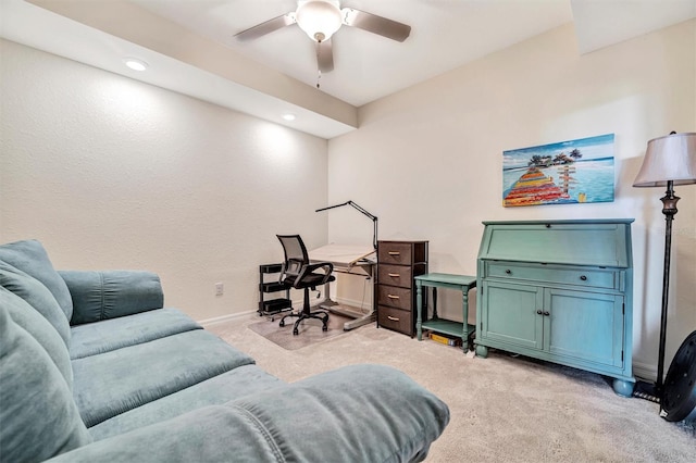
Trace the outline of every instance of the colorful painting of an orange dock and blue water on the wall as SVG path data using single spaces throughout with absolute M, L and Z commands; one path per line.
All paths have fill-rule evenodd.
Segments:
M 613 201 L 613 134 L 502 152 L 502 205 Z

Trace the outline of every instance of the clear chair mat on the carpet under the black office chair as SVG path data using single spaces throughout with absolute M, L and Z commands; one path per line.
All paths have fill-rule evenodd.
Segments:
M 293 326 L 295 326 L 297 317 L 285 318 L 285 326 L 281 327 L 278 324 L 284 315 L 277 314 L 272 317 L 264 317 L 260 322 L 249 324 L 248 327 L 283 349 L 297 350 L 348 333 L 344 330 L 344 323 L 350 321 L 348 317 L 331 314 L 328 329 L 323 331 L 321 320 L 303 320 L 297 328 L 299 335 L 296 336 L 293 335 Z

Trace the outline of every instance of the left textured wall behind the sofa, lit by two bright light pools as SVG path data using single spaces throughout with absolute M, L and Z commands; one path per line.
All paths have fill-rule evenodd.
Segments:
M 276 233 L 326 242 L 326 140 L 11 41 L 0 53 L 0 242 L 37 238 L 58 268 L 157 272 L 197 320 L 257 309 Z

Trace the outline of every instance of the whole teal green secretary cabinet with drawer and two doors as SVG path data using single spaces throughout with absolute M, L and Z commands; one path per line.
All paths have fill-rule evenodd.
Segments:
M 496 348 L 595 372 L 630 397 L 632 222 L 484 222 L 476 354 Z

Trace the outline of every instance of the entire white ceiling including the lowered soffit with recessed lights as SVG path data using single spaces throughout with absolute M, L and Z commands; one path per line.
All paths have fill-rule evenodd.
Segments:
M 696 0 L 344 0 L 411 35 L 397 42 L 341 27 L 335 68 L 316 90 L 313 42 L 296 25 L 234 38 L 295 11 L 295 0 L 30 1 L 0 0 L 0 36 L 324 138 L 353 129 L 358 107 L 562 24 L 574 23 L 587 53 L 696 17 Z M 150 68 L 125 68 L 125 54 Z

